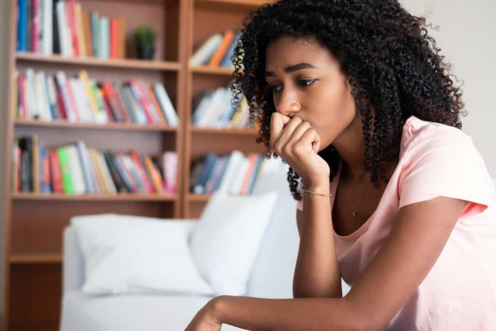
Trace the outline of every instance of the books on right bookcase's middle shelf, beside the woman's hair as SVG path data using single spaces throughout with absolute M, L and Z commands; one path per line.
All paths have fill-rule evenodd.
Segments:
M 253 128 L 246 97 L 243 95 L 238 103 L 234 102 L 229 86 L 221 86 L 213 91 L 202 90 L 193 100 L 191 124 L 218 129 Z

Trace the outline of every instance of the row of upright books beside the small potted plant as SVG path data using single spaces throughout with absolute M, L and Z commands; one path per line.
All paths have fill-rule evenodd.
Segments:
M 125 57 L 125 20 L 75 0 L 17 0 L 17 51 L 66 57 Z

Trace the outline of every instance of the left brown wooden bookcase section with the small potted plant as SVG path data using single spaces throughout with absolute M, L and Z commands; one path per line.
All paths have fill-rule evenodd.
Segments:
M 3 330 L 58 330 L 62 289 L 62 233 L 76 215 L 120 213 L 159 218 L 182 217 L 183 145 L 186 90 L 186 46 L 188 0 L 80 0 L 84 9 L 101 15 L 124 17 L 126 50 L 124 59 L 63 57 L 17 52 L 17 1 L 9 0 L 8 86 L 5 134 L 6 193 Z M 139 60 L 132 33 L 140 25 L 156 32 L 153 61 Z M 162 82 L 180 119 L 179 127 L 132 123 L 75 123 L 68 121 L 21 120 L 11 109 L 12 74 L 26 68 L 71 76 L 86 70 L 92 79 L 119 80 L 142 78 Z M 11 192 L 11 146 L 14 139 L 37 133 L 43 146 L 57 147 L 84 140 L 98 150 L 127 151 L 160 156 L 165 150 L 178 153 L 178 192 L 176 194 L 63 195 Z M 33 275 L 35 275 L 33 277 Z M 39 303 L 42 302 L 42 305 Z M 33 307 L 33 309 L 26 309 Z

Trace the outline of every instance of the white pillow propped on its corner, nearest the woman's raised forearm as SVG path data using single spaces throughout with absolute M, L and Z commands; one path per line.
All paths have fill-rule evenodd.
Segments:
M 216 295 L 245 295 L 277 192 L 235 196 L 215 192 L 191 234 L 191 254 Z

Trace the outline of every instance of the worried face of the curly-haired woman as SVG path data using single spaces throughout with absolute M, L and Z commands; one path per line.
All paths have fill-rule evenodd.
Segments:
M 314 40 L 284 36 L 270 43 L 265 71 L 276 110 L 308 121 L 320 135 L 320 150 L 356 120 L 347 77 L 332 54 Z

